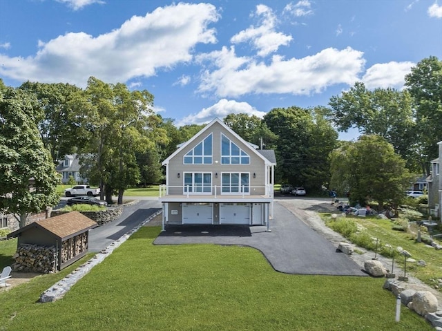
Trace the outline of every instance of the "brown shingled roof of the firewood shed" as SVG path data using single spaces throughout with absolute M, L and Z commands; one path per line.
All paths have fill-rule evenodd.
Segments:
M 30 223 L 29 225 L 26 225 L 26 227 L 22 227 L 21 229 L 8 234 L 8 238 L 16 237 L 21 232 L 32 227 L 39 227 L 61 239 L 61 241 L 64 241 L 96 226 L 97 223 L 90 218 L 84 216 L 78 211 L 71 211 L 67 214 L 46 218 L 44 220 L 37 220 L 37 222 Z

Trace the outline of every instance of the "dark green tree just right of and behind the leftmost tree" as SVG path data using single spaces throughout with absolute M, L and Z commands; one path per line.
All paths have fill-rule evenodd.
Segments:
M 75 153 L 83 142 L 83 135 L 77 133 L 77 126 L 71 121 L 69 102 L 81 88 L 70 84 L 38 82 L 26 82 L 20 88 L 35 94 L 39 107 L 44 111 L 38 128 L 52 159 L 59 160 L 66 154 Z

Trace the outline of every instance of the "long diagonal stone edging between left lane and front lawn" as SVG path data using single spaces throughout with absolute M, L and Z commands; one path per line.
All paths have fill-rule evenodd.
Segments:
M 46 302 L 53 302 L 57 301 L 61 298 L 63 298 L 64 294 L 70 290 L 70 287 L 75 285 L 77 281 L 79 281 L 83 276 L 88 274 L 90 270 L 95 267 L 95 265 L 98 265 L 99 263 L 102 263 L 105 258 L 107 258 L 109 255 L 113 253 L 113 250 L 119 245 L 122 245 L 130 236 L 132 236 L 140 227 L 143 227 L 147 223 L 149 223 L 155 216 L 162 213 L 162 210 L 156 211 L 151 216 L 146 218 L 142 223 L 131 229 L 131 231 L 126 232 L 123 236 L 119 237 L 117 240 L 115 240 L 111 245 L 108 245 L 105 249 L 103 249 L 101 252 L 95 254 L 93 258 L 91 258 L 89 261 L 84 263 L 83 265 L 80 265 L 70 274 L 66 275 L 61 281 L 59 281 L 57 284 L 52 285 L 52 287 L 48 288 L 48 290 L 44 291 L 40 295 L 39 302 L 46 303 Z

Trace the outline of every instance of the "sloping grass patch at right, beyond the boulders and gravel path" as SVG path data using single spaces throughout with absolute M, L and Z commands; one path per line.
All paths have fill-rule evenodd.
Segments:
M 333 225 L 334 221 L 330 221 L 329 214 L 323 214 L 323 219 L 327 220 L 327 224 L 336 228 Z M 347 218 L 338 218 L 336 223 L 339 222 L 354 222 L 362 225 L 365 228 L 365 233 L 369 235 L 369 237 L 378 238 L 380 240 L 378 242 L 378 251 L 384 249 L 385 245 L 391 245 L 394 249 L 396 247 L 402 247 L 407 250 L 412 255 L 414 260 L 425 261 L 425 267 L 419 267 L 416 263 L 407 263 L 407 274 L 410 273 L 416 278 L 419 278 L 421 281 L 426 283 L 427 285 L 434 286 L 437 284 L 437 279 L 442 278 L 442 269 L 441 269 L 441 252 L 436 251 L 436 249 L 432 247 L 428 247 L 425 243 L 417 243 L 416 237 L 408 232 L 403 231 L 395 231 L 393 229 L 394 223 L 390 220 L 383 220 L 375 217 L 347 217 Z M 347 228 L 348 231 L 351 231 Z M 349 234 L 343 234 L 347 238 L 351 238 Z M 403 267 L 404 259 L 403 256 L 396 257 L 396 263 L 399 263 Z M 439 289 L 442 290 L 442 289 Z

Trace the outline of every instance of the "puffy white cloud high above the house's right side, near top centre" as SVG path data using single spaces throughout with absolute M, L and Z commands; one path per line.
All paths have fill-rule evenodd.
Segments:
M 230 39 L 233 44 L 250 41 L 258 50 L 258 55 L 263 57 L 276 52 L 280 46 L 287 46 L 293 39 L 291 35 L 275 31 L 277 19 L 271 8 L 256 6 L 256 16 L 261 18 L 261 25 L 238 32 Z

